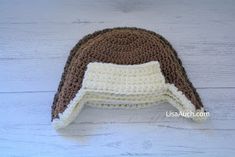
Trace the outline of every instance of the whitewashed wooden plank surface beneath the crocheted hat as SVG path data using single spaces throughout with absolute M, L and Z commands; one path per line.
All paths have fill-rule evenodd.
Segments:
M 178 51 L 210 118 L 85 107 L 56 132 L 51 104 L 70 49 L 84 35 L 135 26 Z M 0 0 L 0 156 L 235 155 L 235 1 Z

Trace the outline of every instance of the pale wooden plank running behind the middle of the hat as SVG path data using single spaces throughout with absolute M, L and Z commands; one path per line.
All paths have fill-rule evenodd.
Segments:
M 181 56 L 197 88 L 235 87 L 234 56 Z M 55 91 L 67 58 L 2 60 L 0 92 Z M 7 65 L 7 66 L 6 66 Z

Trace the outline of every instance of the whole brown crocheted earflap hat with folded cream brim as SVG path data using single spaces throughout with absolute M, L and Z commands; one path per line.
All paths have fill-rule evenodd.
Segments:
M 52 123 L 57 129 L 67 126 L 86 104 L 140 108 L 156 102 L 169 102 L 181 112 L 204 112 L 165 38 L 139 28 L 105 29 L 85 36 L 71 50 L 54 97 Z

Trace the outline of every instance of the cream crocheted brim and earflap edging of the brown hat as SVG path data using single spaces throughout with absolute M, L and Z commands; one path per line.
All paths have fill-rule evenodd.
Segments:
M 156 102 L 169 102 L 180 112 L 204 112 L 203 108 L 196 110 L 174 84 L 165 82 L 157 61 L 138 65 L 93 62 L 87 66 L 81 89 L 52 124 L 56 129 L 66 127 L 86 104 L 106 108 L 142 108 Z

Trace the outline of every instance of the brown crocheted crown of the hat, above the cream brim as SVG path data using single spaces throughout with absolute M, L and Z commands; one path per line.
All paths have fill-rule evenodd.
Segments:
M 63 113 L 82 86 L 90 62 L 142 64 L 158 61 L 166 83 L 174 84 L 196 109 L 201 99 L 189 81 L 176 51 L 161 35 L 139 28 L 113 28 L 94 32 L 71 50 L 52 105 L 52 120 Z

